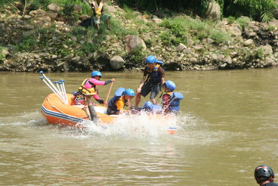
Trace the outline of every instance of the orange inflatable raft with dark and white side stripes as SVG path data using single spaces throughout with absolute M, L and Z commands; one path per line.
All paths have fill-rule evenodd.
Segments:
M 74 105 L 74 95 L 67 94 L 67 100 L 69 104 L 65 104 L 58 96 L 54 93 L 47 95 L 44 102 L 42 103 L 41 112 L 42 116 L 47 118 L 47 121 L 51 124 L 80 127 L 76 125 L 82 123 L 83 121 L 88 121 L 89 118 L 85 111 L 83 110 L 84 105 Z M 98 123 L 104 125 L 112 125 L 113 121 L 120 115 L 108 115 L 106 114 L 106 107 L 101 105 L 95 105 L 95 111 L 97 113 Z M 171 119 L 170 116 L 156 115 L 150 117 L 163 117 L 163 119 Z M 167 132 L 169 134 L 175 134 L 177 127 L 168 127 Z

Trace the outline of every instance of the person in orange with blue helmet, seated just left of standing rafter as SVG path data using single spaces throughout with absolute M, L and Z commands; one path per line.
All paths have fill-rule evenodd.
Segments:
M 108 102 L 107 114 L 122 114 L 124 106 L 131 107 L 130 101 L 135 96 L 135 92 L 128 88 L 117 88 L 115 96 Z

